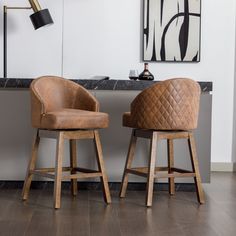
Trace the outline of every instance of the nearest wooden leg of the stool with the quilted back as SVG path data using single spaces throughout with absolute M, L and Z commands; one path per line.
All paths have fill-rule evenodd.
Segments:
M 156 151 L 157 151 L 157 133 L 153 132 L 150 144 L 150 157 L 148 165 L 146 206 L 152 206 L 153 185 L 155 179 Z

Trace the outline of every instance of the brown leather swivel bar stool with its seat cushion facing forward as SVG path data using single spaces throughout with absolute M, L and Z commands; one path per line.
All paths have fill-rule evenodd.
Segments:
M 33 175 L 54 179 L 54 207 L 60 208 L 61 181 L 71 179 L 72 194 L 77 194 L 77 179 L 100 177 L 104 199 L 111 202 L 98 129 L 107 128 L 109 117 L 99 111 L 98 101 L 82 86 L 69 80 L 44 76 L 34 80 L 31 90 L 32 125 L 37 128 L 33 141 L 22 198 L 27 200 Z M 40 138 L 57 140 L 55 168 L 36 169 Z M 62 167 L 64 140 L 70 144 L 70 167 Z M 77 166 L 76 140 L 93 139 L 98 170 Z M 69 172 L 63 175 L 64 171 Z

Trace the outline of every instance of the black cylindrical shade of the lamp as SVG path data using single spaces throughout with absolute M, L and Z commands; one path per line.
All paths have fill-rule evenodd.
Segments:
M 53 20 L 48 9 L 43 9 L 35 12 L 30 16 L 30 19 L 36 30 L 43 26 L 53 24 Z

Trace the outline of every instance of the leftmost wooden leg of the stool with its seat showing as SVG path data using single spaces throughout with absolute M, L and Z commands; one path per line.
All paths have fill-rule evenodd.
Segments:
M 30 189 L 30 185 L 32 182 L 32 177 L 33 177 L 33 175 L 30 172 L 35 169 L 39 141 L 40 141 L 39 131 L 37 130 L 37 133 L 36 133 L 34 140 L 33 140 L 31 159 L 29 161 L 29 165 L 28 165 L 28 169 L 27 169 L 26 177 L 25 177 L 25 182 L 24 182 L 24 187 L 23 187 L 23 191 L 22 191 L 22 199 L 23 200 L 27 200 L 28 196 L 29 196 L 29 189 Z

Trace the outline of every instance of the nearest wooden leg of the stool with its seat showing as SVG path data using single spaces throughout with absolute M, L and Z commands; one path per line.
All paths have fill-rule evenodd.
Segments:
M 63 138 L 63 133 L 59 132 L 59 135 L 57 138 L 55 182 L 54 182 L 54 207 L 55 209 L 58 209 L 61 206 L 61 178 L 62 178 L 63 154 L 64 154 L 64 138 Z

